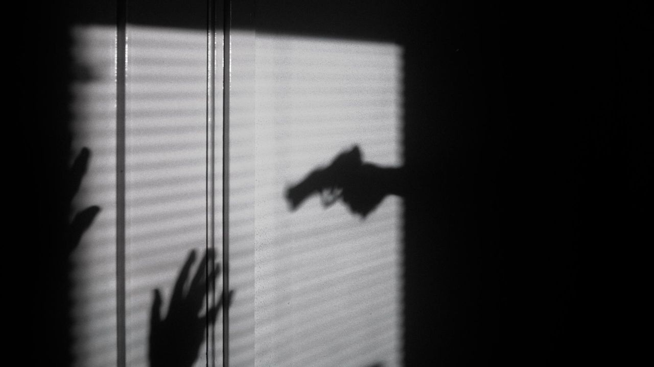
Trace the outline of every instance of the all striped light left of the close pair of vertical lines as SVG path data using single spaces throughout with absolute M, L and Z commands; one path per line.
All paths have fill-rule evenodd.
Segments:
M 75 253 L 74 354 L 78 366 L 109 367 L 116 365 L 117 350 L 116 31 L 80 27 L 74 35 L 77 62 L 91 74 L 73 84 L 75 145 L 92 152 L 78 206 L 102 210 Z M 162 291 L 165 315 L 188 252 L 198 251 L 197 265 L 207 244 L 207 33 L 128 25 L 127 37 L 126 363 L 147 366 L 152 291 Z M 220 118 L 222 94 L 216 98 Z M 216 129 L 220 136 L 220 123 Z M 216 182 L 222 182 L 221 146 Z M 220 185 L 216 189 L 220 248 L 222 193 Z M 216 338 L 220 360 L 220 323 Z M 204 351 L 197 366 L 206 364 Z

